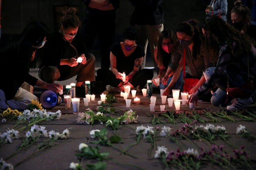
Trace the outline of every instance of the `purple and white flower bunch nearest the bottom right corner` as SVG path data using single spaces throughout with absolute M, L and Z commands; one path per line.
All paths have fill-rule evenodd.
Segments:
M 187 150 L 180 151 L 167 151 L 167 148 L 164 146 L 157 146 L 155 152 L 155 158 L 162 161 L 167 167 L 175 166 L 181 169 L 189 170 L 199 170 L 202 165 L 217 165 L 221 168 L 233 168 L 237 169 L 238 167 L 245 167 L 246 169 L 252 169 L 250 165 L 250 158 L 247 152 L 244 150 L 244 147 L 241 147 L 241 151 L 236 149 L 234 150 L 235 158 L 230 157 L 225 151 L 225 146 L 212 145 L 211 150 L 205 151 L 201 148 L 201 153 L 199 153 L 194 148 L 188 148 Z

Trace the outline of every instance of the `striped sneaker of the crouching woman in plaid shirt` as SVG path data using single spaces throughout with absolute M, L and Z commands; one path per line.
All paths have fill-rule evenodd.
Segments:
M 246 99 L 240 99 L 240 98 L 234 98 L 231 103 L 232 105 L 227 106 L 227 110 L 239 110 L 242 108 L 245 108 L 246 106 L 250 105 L 252 103 L 252 98 L 246 98 Z

